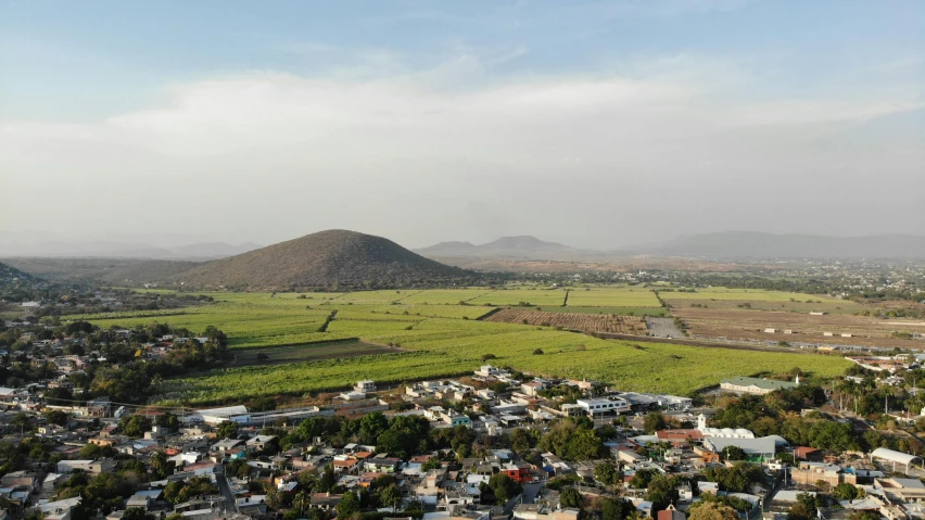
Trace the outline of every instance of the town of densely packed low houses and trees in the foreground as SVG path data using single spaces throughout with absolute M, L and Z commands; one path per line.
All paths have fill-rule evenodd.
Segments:
M 853 358 L 825 388 L 795 368 L 697 398 L 485 364 L 299 406 L 191 408 L 97 395 L 116 390 L 102 372 L 137 331 L 68 327 L 62 340 L 21 333 L 31 350 L 16 365 L 42 373 L 0 389 L 4 518 L 925 518 L 925 410 L 890 409 L 920 397 L 922 354 Z M 161 332 L 129 357 L 223 355 L 220 331 Z M 877 389 L 889 391 L 872 423 Z

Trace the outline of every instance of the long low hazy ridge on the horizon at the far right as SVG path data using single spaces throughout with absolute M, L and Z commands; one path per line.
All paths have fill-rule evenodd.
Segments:
M 656 253 L 724 258 L 925 258 L 925 237 L 822 237 L 730 231 L 681 237 Z

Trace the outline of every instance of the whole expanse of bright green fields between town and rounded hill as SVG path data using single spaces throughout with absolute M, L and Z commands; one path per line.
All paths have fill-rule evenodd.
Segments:
M 239 359 L 259 352 L 278 352 L 271 366 L 214 370 L 198 377 L 170 379 L 159 386 L 159 401 L 190 404 L 229 403 L 258 395 L 303 394 L 341 389 L 359 379 L 407 381 L 470 372 L 493 354 L 494 365 L 546 376 L 590 378 L 624 390 L 690 394 L 731 376 L 785 372 L 800 367 L 821 377 L 839 375 L 849 365 L 839 357 L 770 353 L 658 343 L 599 340 L 548 327 L 479 321 L 494 305 L 529 302 L 544 310 L 628 314 L 625 306 L 645 297 L 645 290 L 595 288 L 578 290 L 600 306 L 562 307 L 566 292 L 549 289 L 452 289 L 433 291 L 370 291 L 352 293 L 208 293 L 215 302 L 181 309 L 183 314 L 147 316 L 98 315 L 102 327 L 135 327 L 166 322 L 202 331 L 224 330 Z M 756 292 L 757 293 L 757 292 Z M 460 296 L 472 294 L 467 305 Z M 650 294 L 650 293 L 649 293 Z M 786 294 L 786 293 L 785 293 Z M 806 299 L 806 295 L 802 295 Z M 484 300 L 484 302 L 481 302 Z M 569 297 L 571 303 L 571 296 Z M 432 302 L 426 304 L 425 302 Z M 608 304 L 608 302 L 610 302 Z M 621 309 L 619 313 L 614 312 Z M 321 332 L 332 313 L 333 319 Z M 634 310 L 635 313 L 635 310 Z M 149 312 L 150 314 L 150 312 Z M 638 313 L 642 314 L 642 313 Z M 464 319 L 467 318 L 467 319 Z M 362 351 L 347 344 L 303 343 L 359 338 L 372 345 L 398 346 L 405 352 Z M 263 351 L 254 347 L 276 347 Z M 380 348 L 382 348 L 380 346 Z M 534 355 L 536 348 L 543 355 Z M 383 352 L 383 354 L 371 354 Z M 359 355 L 357 355 L 359 354 Z M 331 358 L 340 356 L 339 358 Z M 254 362 L 256 357 L 251 359 Z M 311 359 L 311 360 L 308 360 Z M 288 362 L 297 363 L 288 363 Z M 308 360 L 308 362 L 306 362 Z

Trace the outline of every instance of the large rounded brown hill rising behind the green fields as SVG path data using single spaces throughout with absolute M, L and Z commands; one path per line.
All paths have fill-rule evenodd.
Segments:
M 408 287 L 465 281 L 474 274 L 411 253 L 380 237 L 328 230 L 210 262 L 173 277 L 187 287 Z

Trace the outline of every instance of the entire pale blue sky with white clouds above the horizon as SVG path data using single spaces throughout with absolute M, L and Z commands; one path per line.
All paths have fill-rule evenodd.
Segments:
M 917 0 L 0 0 L 0 249 L 925 234 Z

